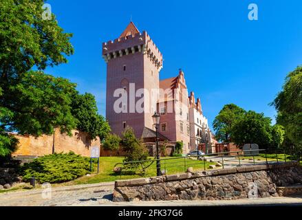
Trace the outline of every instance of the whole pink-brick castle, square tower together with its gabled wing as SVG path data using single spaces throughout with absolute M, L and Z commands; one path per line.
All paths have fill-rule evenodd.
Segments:
M 106 118 L 113 133 L 127 126 L 137 137 L 155 137 L 152 115 L 160 113 L 160 139 L 181 141 L 183 153 L 197 148 L 199 137 L 211 144 L 213 134 L 200 99 L 188 96 L 184 72 L 160 80 L 163 58 L 146 31 L 131 22 L 118 39 L 103 43 L 107 63 Z

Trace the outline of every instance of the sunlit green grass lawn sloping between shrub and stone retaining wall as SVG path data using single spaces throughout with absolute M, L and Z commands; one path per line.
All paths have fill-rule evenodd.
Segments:
M 161 157 L 164 158 L 173 158 L 173 157 Z M 118 179 L 134 179 L 141 177 L 154 177 L 156 176 L 156 164 L 155 162 L 147 168 L 147 172 L 145 175 L 140 175 L 140 172 L 135 171 L 124 171 L 122 175 L 116 174 L 113 172 L 113 168 L 115 164 L 121 163 L 124 157 L 100 157 L 100 173 L 91 174 L 89 177 L 80 177 L 75 179 L 74 181 L 69 181 L 65 183 L 65 185 L 73 185 L 73 184 L 96 184 L 100 182 L 106 181 L 116 181 Z M 153 159 L 153 157 L 150 159 Z M 215 162 L 206 162 L 206 169 L 208 169 L 209 165 L 215 164 Z M 186 159 L 186 168 L 192 166 L 194 170 L 204 170 L 204 162 L 197 159 Z M 97 170 L 97 165 L 94 164 L 95 170 Z M 161 170 L 166 168 L 166 174 L 172 175 L 175 173 L 184 173 L 184 159 L 170 159 L 165 162 L 161 162 Z M 95 171 L 96 173 L 96 171 Z M 60 184 L 62 186 L 62 184 Z

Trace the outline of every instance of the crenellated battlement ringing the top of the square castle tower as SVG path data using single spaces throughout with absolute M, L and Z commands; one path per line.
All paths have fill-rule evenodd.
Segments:
M 150 61 L 162 69 L 162 53 L 147 32 L 122 36 L 114 41 L 103 43 L 103 58 L 106 63 L 111 59 L 127 56 L 129 54 L 142 53 L 150 58 Z

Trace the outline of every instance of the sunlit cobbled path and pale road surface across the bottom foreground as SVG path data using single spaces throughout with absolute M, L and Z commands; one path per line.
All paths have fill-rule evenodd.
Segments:
M 80 190 L 54 190 L 51 199 L 39 192 L 10 192 L 0 194 L 0 206 L 302 206 L 302 196 L 271 197 L 218 201 L 146 201 L 112 202 L 114 186 L 99 186 Z

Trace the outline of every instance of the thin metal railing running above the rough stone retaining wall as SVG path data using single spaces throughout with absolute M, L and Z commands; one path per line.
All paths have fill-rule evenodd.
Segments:
M 254 166 L 259 164 L 274 164 L 281 162 L 298 161 L 299 159 L 292 155 L 265 149 L 248 151 L 228 151 L 220 153 L 208 153 L 205 155 L 186 155 L 183 157 L 169 157 L 162 159 L 148 159 L 134 162 L 123 162 L 115 164 L 119 167 L 120 178 L 127 174 L 156 175 L 156 162 L 160 161 L 160 170 L 163 175 L 184 173 L 187 168 L 194 170 L 208 170 L 210 165 L 219 166 L 219 168 L 230 168 L 237 166 Z

